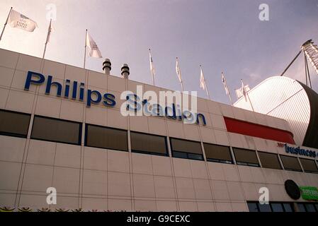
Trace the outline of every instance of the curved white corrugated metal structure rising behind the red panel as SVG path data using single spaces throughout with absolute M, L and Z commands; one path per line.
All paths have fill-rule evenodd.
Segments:
M 290 124 L 297 145 L 302 145 L 310 121 L 310 102 L 302 85 L 297 81 L 274 76 L 266 79 L 249 91 L 255 112 L 285 119 Z M 235 107 L 251 110 L 244 97 Z

